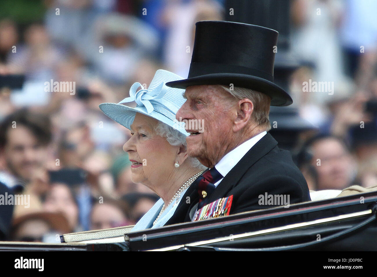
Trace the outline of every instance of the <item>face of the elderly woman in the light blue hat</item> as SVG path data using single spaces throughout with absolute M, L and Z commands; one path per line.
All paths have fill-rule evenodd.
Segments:
M 178 146 L 172 146 L 155 134 L 158 121 L 141 113 L 136 113 L 131 125 L 131 138 L 123 145 L 131 165 L 131 179 L 155 190 L 155 185 L 169 178 L 175 169 Z

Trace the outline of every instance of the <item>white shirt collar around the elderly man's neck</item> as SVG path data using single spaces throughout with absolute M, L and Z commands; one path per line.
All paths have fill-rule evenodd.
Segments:
M 261 138 L 267 134 L 266 131 L 253 136 L 251 139 L 238 145 L 236 148 L 227 153 L 221 160 L 215 165 L 215 168 L 219 173 L 225 177 L 230 170 L 242 159 L 243 156 L 253 147 Z M 217 182 L 219 183 L 219 182 Z M 216 186 L 216 184 L 215 184 Z

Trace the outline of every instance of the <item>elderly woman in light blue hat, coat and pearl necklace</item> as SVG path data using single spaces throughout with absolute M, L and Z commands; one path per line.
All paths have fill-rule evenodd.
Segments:
M 182 89 L 172 89 L 165 83 L 182 80 L 166 70 L 157 70 L 148 89 L 140 83 L 131 86 L 130 97 L 118 104 L 103 103 L 100 109 L 114 121 L 131 131 L 123 150 L 132 162 L 131 179 L 155 191 L 161 197 L 136 223 L 132 231 L 157 228 L 173 216 L 187 188 L 205 170 L 186 150 L 184 125 L 175 114 L 185 102 Z M 122 103 L 136 102 L 136 107 Z

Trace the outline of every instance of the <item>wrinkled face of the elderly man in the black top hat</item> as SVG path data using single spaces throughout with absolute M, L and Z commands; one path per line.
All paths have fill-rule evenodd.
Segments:
M 213 167 L 231 150 L 237 101 L 218 86 L 207 85 L 187 87 L 184 97 L 187 101 L 178 110 L 176 119 L 185 122 L 187 132 L 195 133 L 186 139 L 187 153 L 203 165 Z M 201 130 L 195 127 L 199 121 Z

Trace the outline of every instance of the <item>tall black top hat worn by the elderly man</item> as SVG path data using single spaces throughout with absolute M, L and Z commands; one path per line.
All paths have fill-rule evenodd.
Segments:
M 221 84 L 271 96 L 271 106 L 288 106 L 292 98 L 274 81 L 274 46 L 279 33 L 229 21 L 196 22 L 189 77 L 169 87 Z

